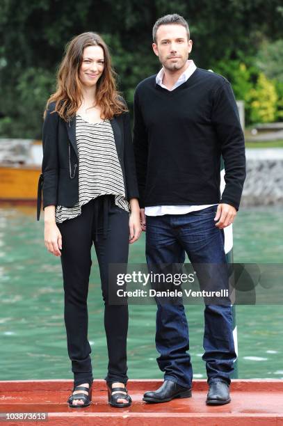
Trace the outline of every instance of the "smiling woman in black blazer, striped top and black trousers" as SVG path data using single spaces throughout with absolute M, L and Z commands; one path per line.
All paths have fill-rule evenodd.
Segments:
M 105 305 L 108 402 L 129 407 L 128 308 L 109 303 L 108 264 L 127 263 L 129 243 L 140 237 L 140 210 L 129 113 L 115 87 L 108 48 L 96 33 L 80 34 L 67 45 L 56 93 L 47 102 L 42 144 L 38 220 L 42 193 L 45 246 L 60 256 L 63 270 L 74 373 L 67 402 L 72 408 L 91 402 L 87 297 L 94 242 Z

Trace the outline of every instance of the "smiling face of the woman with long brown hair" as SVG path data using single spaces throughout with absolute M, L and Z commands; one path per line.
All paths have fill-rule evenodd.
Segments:
M 95 86 L 104 70 L 104 51 L 100 46 L 83 49 L 83 61 L 79 68 L 79 79 L 83 86 Z

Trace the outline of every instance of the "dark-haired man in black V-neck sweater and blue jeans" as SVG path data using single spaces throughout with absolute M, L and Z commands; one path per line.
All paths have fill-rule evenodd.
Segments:
M 134 97 L 147 265 L 181 264 L 186 253 L 193 265 L 225 264 L 223 228 L 234 221 L 245 180 L 245 144 L 232 88 L 224 77 L 188 60 L 192 45 L 183 17 L 158 19 L 152 47 L 163 68 L 141 81 Z M 221 155 L 226 186 L 220 199 Z M 231 306 L 207 304 L 204 321 L 207 404 L 227 404 L 236 359 Z M 164 382 L 143 400 L 191 396 L 188 347 L 184 306 L 157 303 L 157 361 Z

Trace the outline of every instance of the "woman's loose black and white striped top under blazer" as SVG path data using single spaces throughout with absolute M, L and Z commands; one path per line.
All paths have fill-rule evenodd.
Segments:
M 74 207 L 57 205 L 56 222 L 79 216 L 82 205 L 105 194 L 114 194 L 115 205 L 129 212 L 110 121 L 92 124 L 77 114 L 76 145 L 79 154 L 79 201 Z

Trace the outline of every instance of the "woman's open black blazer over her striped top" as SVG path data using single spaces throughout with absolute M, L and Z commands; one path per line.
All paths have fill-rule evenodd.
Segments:
M 76 146 L 76 117 L 65 122 L 49 104 L 42 126 L 42 174 L 38 180 L 38 211 L 41 201 L 43 210 L 47 205 L 74 206 L 79 200 L 79 157 Z M 126 198 L 138 198 L 136 166 L 131 141 L 129 113 L 114 116 L 111 120 L 118 159 L 124 178 Z

